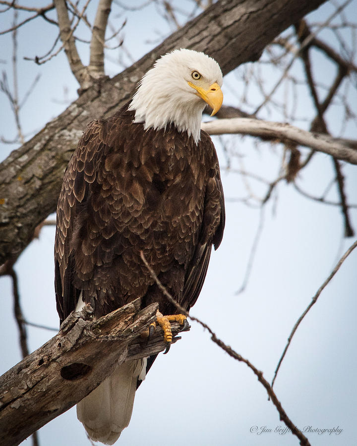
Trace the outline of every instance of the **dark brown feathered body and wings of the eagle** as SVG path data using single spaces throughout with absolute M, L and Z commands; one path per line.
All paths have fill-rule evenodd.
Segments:
M 144 130 L 127 105 L 87 128 L 65 172 L 57 209 L 56 298 L 61 322 L 83 300 L 97 317 L 141 297 L 176 313 L 140 258 L 179 304 L 196 301 L 224 228 L 210 137 Z

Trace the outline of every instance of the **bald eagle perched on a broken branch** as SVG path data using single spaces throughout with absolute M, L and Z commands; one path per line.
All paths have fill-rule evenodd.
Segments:
M 60 322 L 94 302 L 99 318 L 141 298 L 177 314 L 140 257 L 187 311 L 221 243 L 225 209 L 217 154 L 200 130 L 223 101 L 211 57 L 175 50 L 141 79 L 131 102 L 88 125 L 66 169 L 57 207 L 55 288 Z M 77 404 L 94 441 L 113 445 L 155 357 L 120 365 Z

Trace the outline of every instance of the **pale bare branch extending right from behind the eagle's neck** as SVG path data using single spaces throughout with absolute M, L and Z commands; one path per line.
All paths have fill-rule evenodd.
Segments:
M 357 150 L 345 145 L 345 143 L 349 144 L 347 140 L 333 138 L 322 133 L 308 132 L 287 123 L 252 118 L 232 118 L 202 122 L 201 128 L 210 135 L 240 133 L 257 136 L 264 140 L 278 140 L 277 142 L 288 140 L 301 146 L 310 147 L 318 152 L 332 155 L 339 160 L 357 164 Z

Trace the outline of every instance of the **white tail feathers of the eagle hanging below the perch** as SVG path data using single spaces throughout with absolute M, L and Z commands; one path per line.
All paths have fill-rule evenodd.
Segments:
M 146 360 L 121 364 L 97 389 L 77 404 L 77 417 L 89 437 L 105 445 L 114 445 L 129 424 L 136 382 L 142 378 Z

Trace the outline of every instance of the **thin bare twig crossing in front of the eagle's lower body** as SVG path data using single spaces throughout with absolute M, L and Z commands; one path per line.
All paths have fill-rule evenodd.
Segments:
M 209 334 L 211 335 L 212 341 L 214 343 L 216 343 L 219 347 L 221 347 L 230 356 L 232 356 L 232 358 L 236 359 L 237 361 L 244 362 L 244 364 L 246 364 L 253 371 L 253 373 L 258 378 L 258 381 L 263 385 L 263 387 L 267 391 L 267 393 L 269 395 L 269 398 L 273 402 L 274 406 L 277 408 L 277 410 L 279 412 L 279 415 L 280 415 L 280 420 L 283 421 L 287 425 L 287 427 L 289 429 L 291 429 L 292 434 L 297 436 L 297 438 L 300 440 L 300 445 L 302 445 L 302 446 L 310 446 L 310 443 L 307 440 L 307 438 L 302 434 L 301 431 L 299 431 L 297 429 L 296 425 L 288 417 L 287 413 L 283 409 L 283 406 L 281 405 L 281 402 L 277 398 L 274 390 L 272 389 L 272 387 L 270 386 L 268 381 L 263 377 L 263 372 L 258 370 L 253 364 L 251 364 L 247 359 L 245 359 L 243 356 L 241 356 L 239 353 L 237 353 L 232 347 L 230 347 L 229 345 L 225 344 L 219 337 L 217 337 L 217 335 L 210 329 L 210 327 L 207 324 L 205 324 L 204 322 L 200 321 L 199 319 L 197 319 L 194 316 L 190 316 L 188 314 L 188 312 L 183 307 L 181 307 L 181 305 L 179 305 L 179 303 L 168 292 L 168 290 L 165 288 L 165 286 L 160 282 L 160 280 L 158 279 L 158 277 L 155 274 L 154 270 L 150 267 L 150 265 L 148 264 L 147 260 L 145 259 L 144 254 L 143 254 L 142 251 L 140 253 L 140 257 L 141 257 L 142 261 L 144 262 L 146 268 L 148 269 L 151 277 L 155 280 L 155 282 L 157 283 L 157 285 L 159 286 L 159 288 L 161 289 L 163 294 L 167 297 L 169 302 L 174 304 L 182 314 L 184 314 L 185 316 L 189 317 L 192 321 L 196 321 L 204 329 L 206 329 L 209 332 Z

